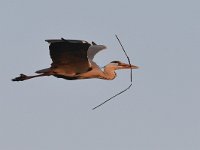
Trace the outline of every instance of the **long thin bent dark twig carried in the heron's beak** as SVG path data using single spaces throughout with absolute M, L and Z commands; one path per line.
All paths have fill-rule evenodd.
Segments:
M 108 101 L 110 101 L 111 99 L 115 98 L 116 96 L 118 96 L 118 95 L 124 93 L 125 91 L 127 91 L 128 89 L 130 89 L 130 87 L 132 86 L 132 80 L 133 80 L 133 79 L 132 79 L 132 74 L 133 74 L 133 73 L 132 73 L 131 61 L 130 61 L 130 59 L 129 59 L 129 57 L 128 57 L 128 55 L 127 55 L 127 53 L 126 53 L 126 51 L 125 51 L 125 49 L 124 49 L 124 47 L 123 47 L 121 41 L 119 40 L 118 36 L 115 35 L 115 37 L 117 38 L 119 44 L 120 44 L 121 47 L 122 47 L 122 50 L 124 51 L 124 54 L 126 55 L 126 57 L 127 57 L 127 59 L 128 59 L 128 63 L 129 63 L 129 65 L 130 65 L 130 81 L 131 81 L 131 84 L 130 84 L 126 89 L 124 89 L 123 91 L 121 91 L 121 92 L 115 94 L 115 95 L 112 96 L 111 98 L 107 99 L 106 101 L 104 101 L 104 102 L 102 102 L 101 104 L 97 105 L 96 107 L 92 108 L 92 110 L 94 110 L 94 109 L 96 109 L 96 108 L 102 106 L 103 104 L 107 103 Z

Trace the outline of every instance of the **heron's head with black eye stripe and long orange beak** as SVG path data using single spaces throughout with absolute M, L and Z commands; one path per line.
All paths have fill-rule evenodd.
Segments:
M 111 63 L 106 65 L 106 67 L 113 68 L 114 70 L 118 70 L 118 69 L 138 69 L 138 66 L 126 64 L 126 63 L 123 63 L 121 61 L 112 61 Z

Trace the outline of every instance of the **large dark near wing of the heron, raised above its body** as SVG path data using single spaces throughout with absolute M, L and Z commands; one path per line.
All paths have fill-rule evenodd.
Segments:
M 78 74 L 90 70 L 87 51 L 91 44 L 81 40 L 46 40 L 49 45 L 52 67 L 65 73 Z

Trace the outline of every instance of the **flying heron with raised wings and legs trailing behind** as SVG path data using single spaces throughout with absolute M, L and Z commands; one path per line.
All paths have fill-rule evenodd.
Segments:
M 105 45 L 98 45 L 95 42 L 72 39 L 48 39 L 50 57 L 52 59 L 49 68 L 36 71 L 37 75 L 20 76 L 12 81 L 24 81 L 36 77 L 55 76 L 66 80 L 77 79 L 104 79 L 113 80 L 117 76 L 116 70 L 137 69 L 138 66 L 123 63 L 121 61 L 111 61 L 103 68 L 99 67 L 94 61 L 94 56 L 106 49 Z

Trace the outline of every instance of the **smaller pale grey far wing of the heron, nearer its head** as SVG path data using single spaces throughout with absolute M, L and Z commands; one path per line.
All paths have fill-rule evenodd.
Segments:
M 87 52 L 88 58 L 93 60 L 94 56 L 103 49 L 106 49 L 105 45 L 91 45 Z

